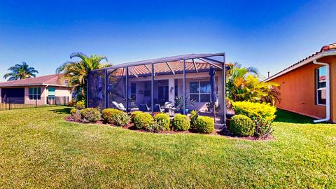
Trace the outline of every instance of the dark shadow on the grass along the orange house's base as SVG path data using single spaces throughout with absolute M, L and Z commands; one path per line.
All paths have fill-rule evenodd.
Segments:
M 284 123 L 314 123 L 314 118 L 310 118 L 308 116 L 302 116 L 297 113 L 293 113 L 290 111 L 285 111 L 281 109 L 277 109 L 276 118 L 274 121 L 276 122 L 284 122 Z

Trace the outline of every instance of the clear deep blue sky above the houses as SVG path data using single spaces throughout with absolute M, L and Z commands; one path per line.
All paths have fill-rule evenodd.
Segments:
M 71 52 L 120 64 L 197 52 L 266 76 L 336 42 L 336 1 L 0 0 L 0 81 L 22 61 L 55 73 Z

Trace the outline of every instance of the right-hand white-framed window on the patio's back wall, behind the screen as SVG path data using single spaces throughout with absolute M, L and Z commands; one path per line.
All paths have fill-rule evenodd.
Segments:
M 195 102 L 210 102 L 210 82 L 196 81 L 189 83 L 190 100 Z

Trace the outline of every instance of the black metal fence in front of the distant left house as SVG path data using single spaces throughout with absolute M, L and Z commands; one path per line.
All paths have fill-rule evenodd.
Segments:
M 29 109 L 41 106 L 64 106 L 68 104 L 70 97 L 22 97 L 22 98 L 1 98 L 0 111 L 13 109 Z

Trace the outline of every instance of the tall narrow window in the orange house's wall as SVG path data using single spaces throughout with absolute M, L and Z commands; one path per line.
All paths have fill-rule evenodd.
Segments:
M 325 90 L 325 66 L 316 69 L 316 104 L 325 105 L 327 94 Z

